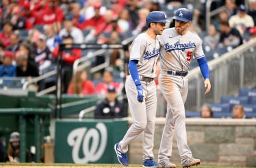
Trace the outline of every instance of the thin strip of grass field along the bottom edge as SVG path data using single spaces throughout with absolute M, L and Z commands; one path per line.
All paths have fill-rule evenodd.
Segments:
M 74 163 L 0 163 L 0 165 L 22 165 L 22 166 L 106 166 L 115 167 L 121 166 L 120 164 L 74 164 Z M 130 164 L 129 167 L 142 167 L 139 164 Z M 178 167 L 181 167 L 178 165 Z M 242 168 L 241 166 L 192 166 L 191 168 Z M 246 167 L 253 168 L 253 167 Z

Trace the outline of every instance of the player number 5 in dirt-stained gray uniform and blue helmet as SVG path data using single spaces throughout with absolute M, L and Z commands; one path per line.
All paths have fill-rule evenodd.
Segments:
M 159 40 L 161 73 L 159 86 L 167 101 L 167 113 L 161 145 L 158 152 L 158 163 L 163 167 L 176 167 L 170 162 L 172 140 L 175 135 L 181 158 L 182 167 L 200 164 L 200 159 L 193 158 L 187 144 L 185 123 L 185 102 L 188 94 L 188 70 L 191 58 L 194 57 L 201 69 L 209 93 L 211 83 L 209 68 L 204 57 L 201 39 L 187 30 L 191 23 L 191 12 L 178 9 L 173 17 L 175 28 L 165 29 Z

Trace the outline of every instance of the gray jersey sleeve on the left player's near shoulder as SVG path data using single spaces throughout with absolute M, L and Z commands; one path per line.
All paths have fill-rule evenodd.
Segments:
M 130 61 L 131 60 L 138 60 L 140 61 L 141 56 L 145 52 L 146 43 L 145 40 L 141 38 L 137 38 L 132 42 L 131 45 L 131 54 L 130 54 Z

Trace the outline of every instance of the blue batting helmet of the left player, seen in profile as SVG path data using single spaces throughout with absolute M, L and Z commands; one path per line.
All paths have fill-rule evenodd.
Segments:
M 153 12 L 150 12 L 146 18 L 147 27 L 149 26 L 149 24 L 151 22 L 166 23 L 166 22 L 170 22 L 170 21 L 167 20 L 167 17 L 164 14 L 164 12 L 153 11 Z

